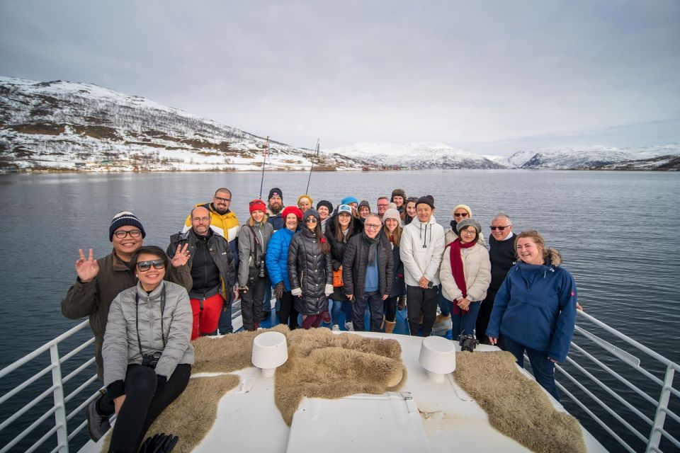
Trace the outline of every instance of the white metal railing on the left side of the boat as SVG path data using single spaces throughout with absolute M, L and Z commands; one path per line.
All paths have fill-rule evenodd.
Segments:
M 18 435 L 13 437 L 13 439 L 9 440 L 6 443 L 6 445 L 2 446 L 0 448 L 0 453 L 9 452 L 11 449 L 17 447 L 17 445 L 22 440 L 25 439 L 33 440 L 33 438 L 40 436 L 40 433 L 35 434 L 35 431 L 38 430 L 41 427 L 41 425 L 43 425 L 43 423 L 47 423 L 47 420 L 52 416 L 54 417 L 54 425 L 52 425 L 52 427 L 48 429 L 47 432 L 43 432 L 42 435 L 38 438 L 38 440 L 35 440 L 35 442 L 33 442 L 32 445 L 28 446 L 25 451 L 29 453 L 34 452 L 36 449 L 42 447 L 42 445 L 44 445 L 45 442 L 47 442 L 47 440 L 50 440 L 50 438 L 52 437 L 56 437 L 57 445 L 50 451 L 52 453 L 69 452 L 69 441 L 71 441 L 76 435 L 78 435 L 79 432 L 81 432 L 81 430 L 83 430 L 86 427 L 87 421 L 83 420 L 81 423 L 79 423 L 79 425 L 77 425 L 77 427 L 75 427 L 72 430 L 69 430 L 68 422 L 77 415 L 83 416 L 84 419 L 83 409 L 91 401 L 93 401 L 94 398 L 96 398 L 98 392 L 95 391 L 94 393 L 87 395 L 84 399 L 82 399 L 83 398 L 82 392 L 88 389 L 94 382 L 96 382 L 97 375 L 95 373 L 90 377 L 81 376 L 81 380 L 84 379 L 83 382 L 79 384 L 69 394 L 64 394 L 64 384 L 67 384 L 69 381 L 72 381 L 72 379 L 86 372 L 86 370 L 88 370 L 89 368 L 94 367 L 95 361 L 94 357 L 88 358 L 80 364 L 76 363 L 75 368 L 65 376 L 62 374 L 62 370 L 64 369 L 64 364 L 66 362 L 68 362 L 69 360 L 75 362 L 76 359 L 74 359 L 74 357 L 77 356 L 79 352 L 83 351 L 85 348 L 94 343 L 94 337 L 89 338 L 89 340 L 86 340 L 84 343 L 81 343 L 76 348 L 67 352 L 63 356 L 60 355 L 60 343 L 63 343 L 64 340 L 68 340 L 76 333 L 81 331 L 83 328 L 86 328 L 88 326 L 89 322 L 83 321 L 78 326 L 75 326 L 69 331 L 62 333 L 62 335 L 58 336 L 57 338 L 51 340 L 48 343 L 45 343 L 45 345 L 40 346 L 40 348 L 34 350 L 33 352 L 30 352 L 30 354 L 22 357 L 20 360 L 17 360 L 11 365 L 8 365 L 4 369 L 0 370 L 0 380 L 8 379 L 9 377 L 11 377 L 11 374 L 13 372 L 16 372 L 18 369 L 22 369 L 23 373 L 26 373 L 25 367 L 27 365 L 38 365 L 38 367 L 40 367 L 41 366 L 40 360 L 41 359 L 44 360 L 43 356 L 47 352 L 49 352 L 50 354 L 49 365 L 43 367 L 42 369 L 40 369 L 40 371 L 33 374 L 33 376 L 31 377 L 28 378 L 21 377 L 21 379 L 23 379 L 23 382 L 21 382 L 21 384 L 14 387 L 6 394 L 0 396 L 0 407 L 8 403 L 8 401 L 10 401 L 11 398 L 18 396 L 18 394 L 21 394 L 21 392 L 23 392 L 23 398 L 26 399 L 27 397 L 25 395 L 26 393 L 33 389 L 32 387 L 33 384 L 36 384 L 36 382 L 40 384 L 39 381 L 41 378 L 44 377 L 46 379 L 47 376 L 51 374 L 52 385 L 48 386 L 47 389 L 42 391 L 42 393 L 38 394 L 38 396 L 35 396 L 33 399 L 31 399 L 28 403 L 26 403 L 25 406 L 18 408 L 18 410 L 14 411 L 12 415 L 6 418 L 6 420 L 3 420 L 0 423 L 0 435 L 3 435 L 3 432 L 7 432 L 10 426 L 13 426 L 15 432 L 17 430 L 20 430 L 22 428 L 21 426 L 19 426 L 18 428 L 16 427 L 17 425 L 21 424 L 22 416 L 31 411 L 32 409 L 33 412 L 42 410 L 42 408 L 40 408 L 40 406 L 38 405 L 46 398 L 50 398 L 50 396 L 52 397 L 52 407 L 48 408 L 47 411 L 42 413 L 42 415 L 37 416 L 37 418 L 33 420 L 33 423 L 30 423 L 30 425 L 24 428 L 20 433 L 18 433 Z M 89 355 L 91 356 L 91 354 Z M 69 365 L 74 366 L 72 362 L 69 363 Z M 89 370 L 89 372 L 91 372 L 91 369 Z M 74 380 L 73 382 L 77 384 L 79 381 Z M 30 398 L 30 396 L 28 396 L 28 398 Z M 77 399 L 78 397 L 81 398 L 81 401 Z M 67 403 L 69 402 L 72 402 L 72 404 L 77 404 L 77 406 L 75 408 L 72 408 L 71 411 L 67 411 Z M 33 416 L 34 415 L 33 412 L 29 413 L 28 415 Z M 29 434 L 33 434 L 33 438 L 28 437 L 27 439 L 27 436 Z M 43 447 L 41 451 L 48 450 Z

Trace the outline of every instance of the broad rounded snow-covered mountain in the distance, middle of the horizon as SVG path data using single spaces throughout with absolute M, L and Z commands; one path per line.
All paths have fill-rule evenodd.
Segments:
M 334 156 L 347 156 L 378 166 L 399 168 L 505 168 L 479 154 L 450 147 L 448 144 L 353 143 L 327 149 Z

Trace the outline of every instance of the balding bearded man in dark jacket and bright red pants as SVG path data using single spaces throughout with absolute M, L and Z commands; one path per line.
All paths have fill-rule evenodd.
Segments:
M 210 229 L 210 212 L 202 206 L 191 210 L 191 229 L 170 237 L 168 255 L 188 245 L 188 265 L 193 287 L 189 292 L 193 326 L 191 340 L 217 330 L 220 312 L 236 282 L 234 257 L 229 244 Z

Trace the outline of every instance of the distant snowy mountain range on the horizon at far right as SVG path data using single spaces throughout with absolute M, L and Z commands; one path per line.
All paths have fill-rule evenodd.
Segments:
M 672 170 L 680 169 L 678 158 L 680 144 L 637 148 L 553 147 L 517 151 L 501 163 L 514 168 Z

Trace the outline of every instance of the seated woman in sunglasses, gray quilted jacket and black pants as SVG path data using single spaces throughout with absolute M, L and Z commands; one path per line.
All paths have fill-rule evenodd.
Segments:
M 98 409 L 118 415 L 109 452 L 137 452 L 149 426 L 191 375 L 191 304 L 186 289 L 163 281 L 168 264 L 159 247 L 137 250 L 130 268 L 139 282 L 120 292 L 108 312 L 102 356 L 113 407 Z

